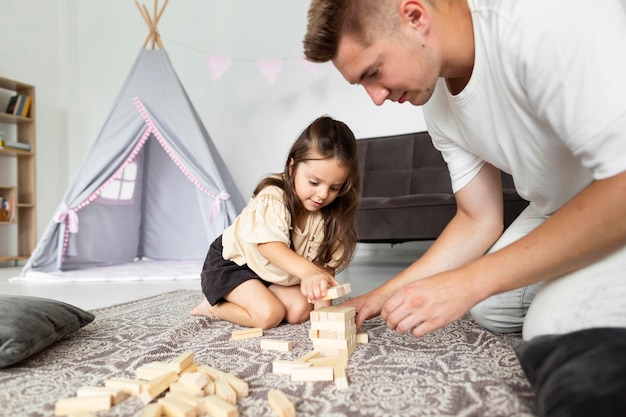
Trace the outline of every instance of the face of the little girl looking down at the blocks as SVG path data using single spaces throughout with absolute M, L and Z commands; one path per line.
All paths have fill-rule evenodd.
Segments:
M 295 169 L 294 185 L 296 195 L 307 211 L 318 211 L 335 201 L 341 187 L 348 178 L 348 170 L 337 158 L 312 159 L 299 163 Z

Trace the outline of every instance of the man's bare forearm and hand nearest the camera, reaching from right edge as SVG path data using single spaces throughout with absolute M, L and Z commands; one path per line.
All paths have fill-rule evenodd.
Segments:
M 485 298 L 589 265 L 626 245 L 626 172 L 594 181 L 527 236 L 452 271 L 411 283 L 382 317 L 416 337 Z

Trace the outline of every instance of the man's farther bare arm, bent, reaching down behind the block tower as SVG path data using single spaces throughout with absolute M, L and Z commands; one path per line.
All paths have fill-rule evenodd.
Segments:
M 432 246 L 407 269 L 380 287 L 344 303 L 356 307 L 357 326 L 380 314 L 383 303 L 406 285 L 458 268 L 482 256 L 503 230 L 500 171 L 485 164 L 455 195 L 457 213 Z

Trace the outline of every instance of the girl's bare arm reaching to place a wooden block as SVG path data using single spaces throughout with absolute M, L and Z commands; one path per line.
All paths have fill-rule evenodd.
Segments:
M 328 287 L 339 285 L 333 275 L 298 255 L 282 242 L 260 243 L 259 252 L 271 264 L 300 278 L 302 295 L 311 301 L 319 301 L 326 296 Z

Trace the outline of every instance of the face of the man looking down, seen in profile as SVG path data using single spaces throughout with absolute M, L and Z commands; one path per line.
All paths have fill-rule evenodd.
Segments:
M 333 64 L 350 84 L 361 84 L 374 104 L 406 101 L 416 106 L 433 94 L 438 71 L 434 55 L 418 34 L 400 32 L 363 46 L 345 35 Z

